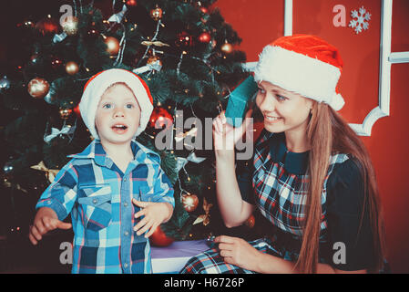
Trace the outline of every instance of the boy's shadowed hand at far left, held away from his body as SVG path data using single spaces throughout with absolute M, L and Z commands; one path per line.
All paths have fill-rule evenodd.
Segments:
M 34 224 L 30 226 L 28 238 L 33 245 L 36 245 L 48 231 L 59 229 L 70 229 L 72 224 L 64 223 L 58 220 L 56 212 L 53 209 L 43 207 L 40 208 L 34 218 Z

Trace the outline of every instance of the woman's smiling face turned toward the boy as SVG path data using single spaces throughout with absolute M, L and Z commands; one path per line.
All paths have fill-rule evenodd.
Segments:
M 256 104 L 264 117 L 264 128 L 270 132 L 307 129 L 312 99 L 261 81 Z

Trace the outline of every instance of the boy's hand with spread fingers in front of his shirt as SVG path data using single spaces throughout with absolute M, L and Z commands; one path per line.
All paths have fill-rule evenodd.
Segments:
M 141 202 L 135 199 L 132 199 L 132 203 L 135 203 L 141 208 L 141 210 L 135 214 L 135 218 L 145 215 L 145 217 L 135 225 L 134 231 L 137 231 L 137 235 L 142 235 L 150 228 L 145 237 L 152 235 L 156 227 L 169 220 L 173 213 L 173 207 L 170 203 Z

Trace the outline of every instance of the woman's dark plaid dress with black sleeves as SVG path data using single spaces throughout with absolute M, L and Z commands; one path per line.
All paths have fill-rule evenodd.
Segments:
M 269 226 L 263 238 L 250 244 L 270 255 L 295 262 L 302 245 L 303 210 L 309 175 L 309 152 L 287 151 L 284 133 L 263 130 L 256 142 L 253 167 L 245 167 L 238 175 L 240 193 L 255 204 Z M 373 249 L 369 217 L 363 210 L 363 180 L 358 164 L 347 154 L 332 155 L 322 189 L 322 223 L 319 262 L 342 270 L 359 270 L 373 265 Z M 367 208 L 365 207 L 365 210 Z M 346 247 L 344 263 L 332 260 L 335 243 Z M 255 272 L 223 261 L 217 248 L 189 259 L 180 273 L 253 274 Z

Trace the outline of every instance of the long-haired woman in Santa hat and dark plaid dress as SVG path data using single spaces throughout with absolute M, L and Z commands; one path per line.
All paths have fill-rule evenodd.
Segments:
M 214 122 L 217 195 L 228 227 L 257 208 L 271 223 L 250 243 L 221 235 L 218 248 L 181 273 L 366 273 L 383 269 L 383 216 L 363 142 L 339 116 L 343 61 L 317 36 L 283 36 L 264 47 L 254 78 L 264 129 L 251 167 L 236 178 L 234 129 Z M 251 110 L 247 117 L 251 116 Z M 223 146 L 222 146 L 223 145 Z M 223 148 L 224 147 L 224 148 Z

